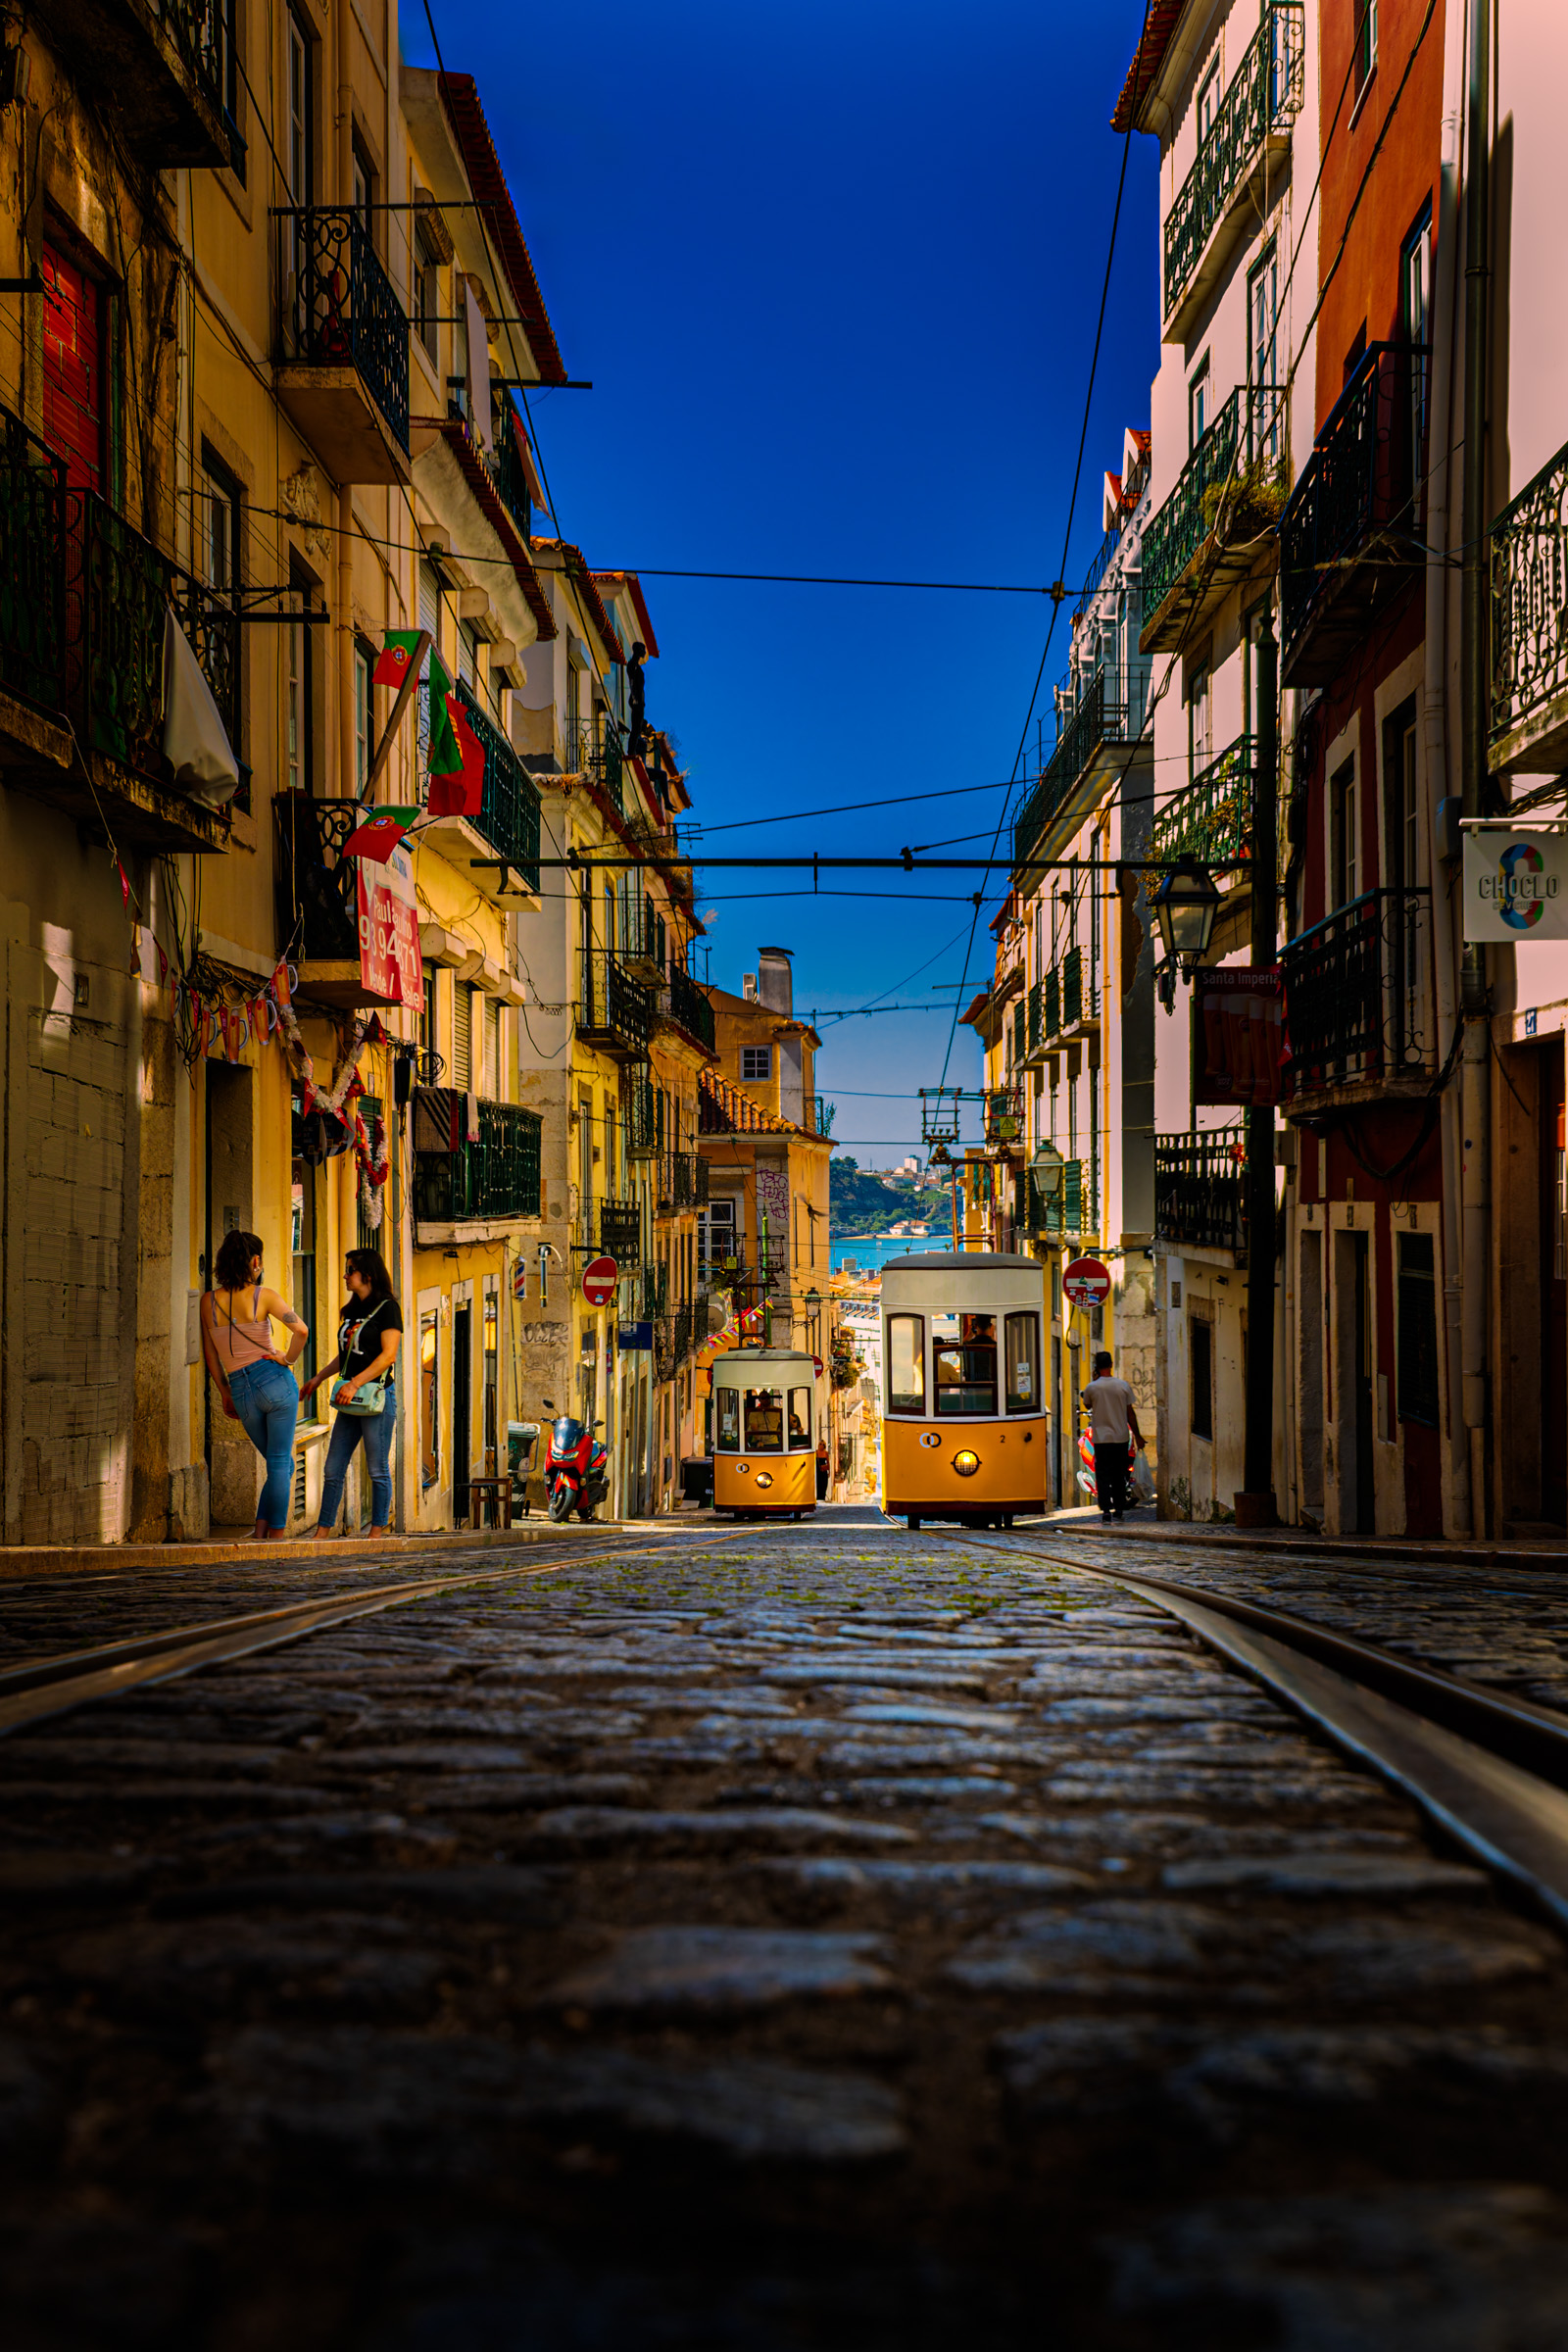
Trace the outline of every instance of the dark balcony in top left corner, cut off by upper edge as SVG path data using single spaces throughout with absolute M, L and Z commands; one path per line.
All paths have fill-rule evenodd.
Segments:
M 146 165 L 209 167 L 244 151 L 230 113 L 221 0 L 42 0 L 73 75 L 113 99 L 115 132 Z

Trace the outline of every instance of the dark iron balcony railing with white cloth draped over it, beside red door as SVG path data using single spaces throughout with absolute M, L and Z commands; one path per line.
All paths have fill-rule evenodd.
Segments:
M 160 555 L 92 489 L 66 492 L 66 706 L 78 741 L 169 781 L 165 614 L 183 626 L 230 748 L 240 734 L 240 616 L 214 588 Z

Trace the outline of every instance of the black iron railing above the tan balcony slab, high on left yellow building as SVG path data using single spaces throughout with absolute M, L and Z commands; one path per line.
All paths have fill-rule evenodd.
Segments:
M 282 358 L 353 367 L 409 454 L 409 315 L 353 205 L 277 207 Z

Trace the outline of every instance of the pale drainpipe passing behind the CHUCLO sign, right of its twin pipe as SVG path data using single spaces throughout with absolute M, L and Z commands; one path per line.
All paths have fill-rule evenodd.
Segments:
M 1486 795 L 1486 275 L 1488 275 L 1488 66 L 1490 5 L 1469 0 L 1465 155 L 1465 569 L 1460 574 L 1460 724 L 1465 816 L 1483 816 Z M 1460 974 L 1462 1051 L 1462 1216 L 1465 1216 L 1465 1430 L 1469 1435 L 1469 1524 L 1488 1531 L 1488 1261 L 1490 1261 L 1490 1073 L 1486 950 L 1465 948 Z

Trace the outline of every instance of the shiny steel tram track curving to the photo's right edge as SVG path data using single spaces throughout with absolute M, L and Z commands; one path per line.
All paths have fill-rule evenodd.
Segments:
M 964 1534 L 1164 1609 L 1568 1931 L 1568 1717 L 1229 1592 Z

